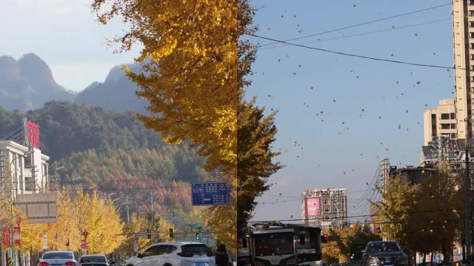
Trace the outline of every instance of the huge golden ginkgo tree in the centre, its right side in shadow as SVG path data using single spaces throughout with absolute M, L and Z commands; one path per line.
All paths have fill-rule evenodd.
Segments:
M 128 26 L 112 40 L 119 51 L 141 46 L 141 72 L 125 67 L 149 101 L 141 121 L 168 143 L 198 147 L 205 168 L 233 186 L 236 203 L 209 209 L 206 220 L 236 249 L 238 227 L 268 188 L 265 178 L 280 168 L 270 145 L 274 114 L 264 118 L 243 100 L 256 46 L 242 37 L 256 30 L 254 9 L 247 0 L 94 0 L 91 8 L 104 24 L 119 17 Z

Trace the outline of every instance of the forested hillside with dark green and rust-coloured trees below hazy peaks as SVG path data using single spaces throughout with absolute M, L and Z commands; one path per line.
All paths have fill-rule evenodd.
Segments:
M 164 143 L 134 112 L 64 101 L 26 114 L 0 108 L 0 139 L 19 130 L 24 116 L 40 125 L 42 152 L 51 157 L 51 175 L 60 177 L 56 185 L 113 193 L 128 199 L 130 212 L 149 211 L 152 193 L 155 211 L 189 213 L 189 183 L 208 178 L 202 157 L 185 144 Z

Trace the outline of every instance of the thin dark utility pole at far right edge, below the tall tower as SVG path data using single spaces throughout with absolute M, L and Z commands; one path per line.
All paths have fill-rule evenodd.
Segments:
M 464 242 L 466 243 L 466 260 L 471 262 L 471 172 L 469 169 L 469 127 L 471 125 L 471 118 L 465 118 L 466 121 L 466 221 L 465 221 L 465 232 Z

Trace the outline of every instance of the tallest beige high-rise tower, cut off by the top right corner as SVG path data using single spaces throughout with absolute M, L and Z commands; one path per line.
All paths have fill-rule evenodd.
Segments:
M 474 101 L 474 1 L 453 0 L 455 56 L 455 105 L 457 138 L 466 138 L 466 121 L 471 121 Z M 473 137 L 473 125 L 467 129 Z

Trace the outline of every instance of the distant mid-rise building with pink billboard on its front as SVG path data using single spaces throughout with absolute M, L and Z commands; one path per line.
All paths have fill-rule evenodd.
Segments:
M 306 190 L 302 194 L 301 216 L 314 227 L 342 229 L 347 226 L 346 188 Z

